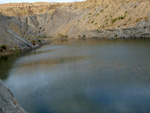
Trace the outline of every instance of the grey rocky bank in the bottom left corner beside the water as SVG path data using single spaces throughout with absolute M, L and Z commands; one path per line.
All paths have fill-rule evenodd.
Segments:
M 0 80 L 0 113 L 27 113 Z

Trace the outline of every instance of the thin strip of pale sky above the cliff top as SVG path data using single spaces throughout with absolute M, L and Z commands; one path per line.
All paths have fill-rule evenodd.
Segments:
M 0 0 L 0 3 L 21 3 L 21 2 L 74 2 L 83 0 Z

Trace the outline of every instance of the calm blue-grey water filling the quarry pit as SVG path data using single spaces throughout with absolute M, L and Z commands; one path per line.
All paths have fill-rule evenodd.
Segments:
M 43 46 L 0 59 L 0 76 L 29 113 L 149 113 L 150 41 Z

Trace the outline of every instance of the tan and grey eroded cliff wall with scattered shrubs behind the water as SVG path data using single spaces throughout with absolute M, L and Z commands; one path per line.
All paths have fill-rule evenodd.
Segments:
M 36 37 L 150 38 L 149 0 L 0 5 L 0 45 L 30 48 Z

